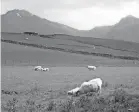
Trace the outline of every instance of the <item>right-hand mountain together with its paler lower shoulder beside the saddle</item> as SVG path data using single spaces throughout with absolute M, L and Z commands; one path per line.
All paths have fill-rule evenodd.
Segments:
M 129 15 L 115 25 L 95 27 L 86 32 L 91 37 L 139 42 L 139 18 Z

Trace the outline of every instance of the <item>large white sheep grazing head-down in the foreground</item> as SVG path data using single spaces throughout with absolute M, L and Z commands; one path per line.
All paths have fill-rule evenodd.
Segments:
M 92 79 L 88 82 L 83 82 L 80 87 L 77 87 L 71 91 L 68 91 L 68 95 L 79 96 L 81 94 L 88 93 L 101 93 L 102 80 L 100 78 Z

